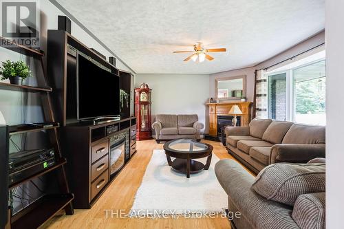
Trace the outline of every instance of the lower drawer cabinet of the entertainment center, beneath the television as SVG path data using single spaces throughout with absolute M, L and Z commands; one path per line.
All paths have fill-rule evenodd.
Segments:
M 117 127 L 118 131 L 107 133 L 108 127 Z M 118 174 L 111 175 L 111 137 L 124 132 L 130 138 L 123 166 L 136 152 L 135 117 L 96 125 L 69 124 L 61 129 L 74 208 L 91 208 Z

